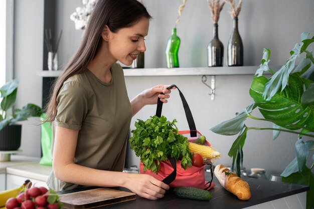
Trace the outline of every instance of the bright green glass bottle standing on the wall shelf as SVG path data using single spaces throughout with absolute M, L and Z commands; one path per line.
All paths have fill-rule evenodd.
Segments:
M 167 68 L 179 68 L 178 52 L 180 47 L 180 38 L 177 36 L 177 29 L 172 29 L 172 35 L 168 40 L 166 48 Z

